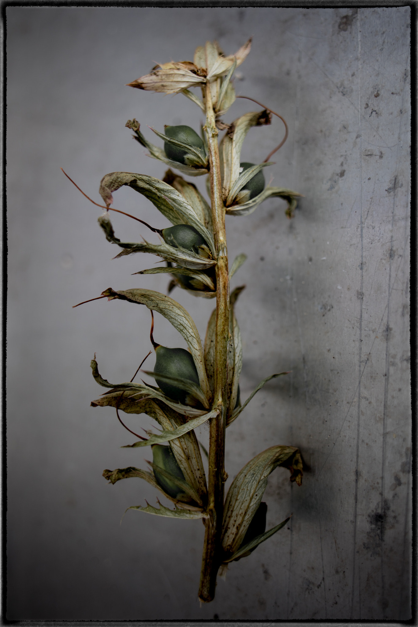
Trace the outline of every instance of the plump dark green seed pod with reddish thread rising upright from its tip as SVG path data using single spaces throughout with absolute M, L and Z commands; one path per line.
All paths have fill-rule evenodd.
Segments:
M 154 372 L 165 374 L 169 377 L 177 377 L 177 379 L 187 379 L 196 385 L 200 385 L 199 374 L 193 361 L 193 357 L 189 351 L 185 349 L 169 349 L 165 346 L 157 346 L 155 348 L 157 359 L 155 360 Z M 178 401 L 182 404 L 187 403 L 189 393 L 180 389 L 172 383 L 161 381 L 157 376 L 154 377 L 157 386 L 164 392 L 166 396 Z

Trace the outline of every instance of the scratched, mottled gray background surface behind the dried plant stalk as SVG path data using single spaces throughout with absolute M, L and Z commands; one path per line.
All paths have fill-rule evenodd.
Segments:
M 407 619 L 410 617 L 409 8 L 8 8 L 8 549 L 10 619 Z M 228 218 L 246 265 L 237 305 L 241 394 L 283 370 L 227 430 L 229 482 L 273 444 L 300 447 L 302 487 L 279 469 L 268 527 L 291 523 L 218 580 L 200 606 L 201 521 L 130 510 L 155 503 L 104 468 L 146 467 L 112 409 L 90 408 L 90 371 L 127 381 L 150 349 L 145 307 L 105 300 L 155 258 L 128 256 L 98 228 L 107 172 L 164 175 L 125 122 L 198 128 L 182 95 L 125 83 L 156 62 L 192 59 L 217 38 L 233 53 L 253 35 L 237 93 L 280 112 L 289 139 L 268 169 L 304 194 L 293 221 L 266 201 Z M 258 107 L 238 100 L 225 120 Z M 283 125 L 252 129 L 243 161 L 261 162 Z M 158 140 L 156 140 L 156 143 Z M 202 180 L 195 179 L 201 189 Z M 114 206 L 167 226 L 131 189 Z M 117 235 L 147 230 L 113 214 Z M 204 337 L 213 302 L 177 290 Z M 155 337 L 184 345 L 159 315 Z M 150 357 L 147 367 L 151 369 Z M 146 416 L 126 418 L 149 428 Z M 199 436 L 207 441 L 207 428 Z

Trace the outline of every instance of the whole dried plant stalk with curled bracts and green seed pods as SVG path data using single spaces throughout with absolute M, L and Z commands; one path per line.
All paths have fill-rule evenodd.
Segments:
M 267 505 L 261 502 L 261 498 L 268 475 L 277 466 L 285 466 L 291 472 L 291 481 L 300 485 L 302 476 L 299 451 L 292 446 L 274 445 L 244 466 L 224 497 L 227 426 L 239 417 L 266 382 L 286 374 L 281 372 L 265 377 L 241 405 L 238 382 L 242 343 L 234 304 L 243 287 L 236 288 L 230 295 L 229 280 L 244 263 L 246 255 L 238 255 L 229 271 L 225 216 L 248 215 L 264 199 L 277 196 L 286 200 L 286 214 L 291 217 L 300 196 L 285 187 L 268 186 L 264 189 L 263 169 L 271 165 L 268 159 L 262 164 L 240 162 L 241 146 L 249 129 L 270 124 L 274 112 L 264 108 L 261 112 L 246 113 L 230 125 L 220 119 L 235 100 L 231 78 L 250 48 L 251 40 L 235 55 L 224 56 L 216 42 L 207 42 L 197 48 L 193 62 L 164 63 L 156 66 L 149 75 L 130 83 L 131 87 L 142 90 L 183 93 L 206 113 L 202 139 L 190 127 L 166 127 L 165 134 L 152 129 L 157 137 L 164 140 L 164 150 L 142 135 L 137 120 L 128 120 L 126 126 L 134 132 L 134 139 L 149 150 L 151 157 L 170 168 L 189 176 L 203 176 L 209 172 L 211 206 L 196 186 L 171 169 L 165 172 L 162 181 L 131 172 L 106 174 L 100 184 L 105 206 L 98 205 L 107 209 L 98 222 L 107 240 L 122 248 L 118 257 L 147 252 L 167 261 L 167 268 L 150 268 L 136 274 L 167 272 L 172 275 L 169 291 L 178 285 L 195 296 L 216 296 L 216 310 L 209 319 L 203 348 L 191 316 L 172 298 L 141 288 L 108 288 L 98 298 L 118 298 L 158 311 L 183 335 L 190 352 L 157 344 L 153 335 L 153 316 L 150 340 L 157 359 L 154 371 L 143 372 L 154 377 L 158 387 L 145 382 L 138 384 L 133 379 L 130 382 L 109 383 L 100 375 L 96 359 L 91 361 L 95 381 L 108 388 L 102 398 L 91 403 L 92 406 L 115 408 L 123 426 L 119 411 L 148 414 L 162 427 L 159 433 L 147 431 L 148 438 L 137 436 L 139 441 L 127 445 L 133 448 L 152 446 L 151 472 L 129 466 L 113 471 L 106 469 L 103 477 L 111 483 L 125 478 L 142 478 L 175 506 L 172 510 L 161 503 L 159 507 L 147 503 L 146 507 L 134 505 L 130 509 L 169 518 L 204 520 L 206 530 L 199 599 L 206 603 L 214 598 L 219 568 L 224 571 L 230 562 L 251 554 L 258 544 L 280 530 L 288 520 L 265 530 Z M 202 100 L 189 91 L 196 86 L 202 90 Z M 274 115 L 281 118 L 278 113 Z M 220 143 L 219 130 L 226 130 Z M 285 139 L 287 133 L 286 126 Z M 172 227 L 162 230 L 150 227 L 162 238 L 159 244 L 145 240 L 141 243 L 123 242 L 115 235 L 109 211 L 128 215 L 110 206 L 113 204 L 113 192 L 121 186 L 128 186 L 148 198 L 172 223 Z M 135 216 L 130 217 L 149 226 Z M 209 423 L 207 483 L 201 451 L 193 431 L 206 421 Z M 133 431 L 130 433 L 135 435 Z

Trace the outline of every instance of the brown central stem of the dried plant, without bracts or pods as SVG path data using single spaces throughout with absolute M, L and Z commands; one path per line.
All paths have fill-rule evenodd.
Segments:
M 229 275 L 225 233 L 225 208 L 222 200 L 221 166 L 217 145 L 217 128 L 212 107 L 211 90 L 206 84 L 206 125 L 204 130 L 209 151 L 211 204 L 216 265 L 216 335 L 214 363 L 214 396 L 212 408 L 219 416 L 209 425 L 209 517 L 206 519 L 202 555 L 199 599 L 212 601 L 215 596 L 216 575 L 221 565 L 221 531 L 224 510 L 224 483 L 227 475 L 225 460 L 225 428 L 227 409 L 227 341 L 229 332 Z

